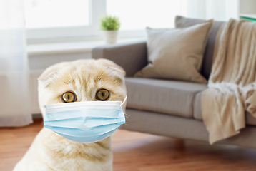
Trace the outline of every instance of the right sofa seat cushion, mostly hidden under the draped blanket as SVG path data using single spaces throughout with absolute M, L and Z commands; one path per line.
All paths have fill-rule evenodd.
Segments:
M 202 97 L 202 92 L 197 93 L 195 95 L 195 100 L 194 100 L 194 118 L 197 120 L 202 120 L 202 110 L 201 110 L 201 97 Z M 256 125 L 256 118 L 253 117 L 250 113 L 245 113 L 245 123 L 247 125 Z

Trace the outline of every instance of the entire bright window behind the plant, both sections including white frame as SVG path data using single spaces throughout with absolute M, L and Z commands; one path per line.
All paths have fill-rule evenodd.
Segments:
M 172 28 L 174 16 L 187 16 L 187 0 L 24 0 L 27 38 L 101 38 L 100 18 L 121 21 L 119 38 L 145 36 L 144 28 Z

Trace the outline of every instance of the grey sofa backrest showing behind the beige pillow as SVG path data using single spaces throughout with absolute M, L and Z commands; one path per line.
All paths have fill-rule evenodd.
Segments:
M 188 19 L 183 16 L 176 16 L 175 19 L 175 28 L 186 28 L 189 26 L 194 26 L 195 24 L 200 24 L 205 20 L 202 19 Z M 214 21 L 212 24 L 212 28 L 210 29 L 210 33 L 208 35 L 207 44 L 205 47 L 205 54 L 202 59 L 202 67 L 201 67 L 201 74 L 205 78 L 210 77 L 211 69 L 212 69 L 212 57 L 213 52 L 215 49 L 215 41 L 217 32 L 220 29 L 220 26 L 224 24 L 225 22 L 222 21 Z

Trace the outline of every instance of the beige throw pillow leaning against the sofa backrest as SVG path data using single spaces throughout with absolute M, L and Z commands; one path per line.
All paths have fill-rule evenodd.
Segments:
M 147 29 L 148 65 L 135 74 L 144 78 L 172 78 L 207 83 L 200 74 L 212 20 L 171 30 Z

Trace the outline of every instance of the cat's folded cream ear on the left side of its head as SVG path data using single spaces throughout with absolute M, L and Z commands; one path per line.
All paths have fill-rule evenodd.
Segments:
M 54 66 L 50 66 L 49 68 L 47 68 L 44 73 L 41 74 L 41 76 L 39 76 L 39 78 L 37 78 L 38 81 L 47 81 L 49 80 L 49 78 L 51 78 L 52 76 L 56 75 L 58 73 L 58 71 L 63 67 L 63 65 L 66 63 L 57 63 Z

